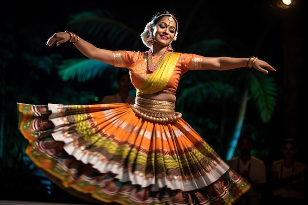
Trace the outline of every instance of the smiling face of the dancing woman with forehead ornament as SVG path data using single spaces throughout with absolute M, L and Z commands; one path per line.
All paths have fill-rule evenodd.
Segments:
M 175 36 L 176 22 L 170 16 L 163 16 L 153 29 L 154 42 L 162 46 L 167 46 Z

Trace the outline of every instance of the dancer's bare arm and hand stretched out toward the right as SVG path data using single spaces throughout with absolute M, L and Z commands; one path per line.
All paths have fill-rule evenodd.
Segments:
M 203 57 L 202 69 L 204 70 L 231 70 L 235 68 L 242 68 L 247 66 L 249 58 L 232 58 L 232 57 Z M 251 59 L 250 59 L 251 60 Z M 251 61 L 252 62 L 252 61 Z M 270 71 L 276 71 L 269 63 L 264 60 L 256 59 L 252 67 L 256 70 L 268 74 Z

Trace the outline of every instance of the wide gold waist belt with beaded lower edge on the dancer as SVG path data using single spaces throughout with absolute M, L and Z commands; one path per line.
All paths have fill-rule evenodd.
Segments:
M 130 106 L 138 117 L 152 122 L 167 123 L 182 117 L 181 113 L 175 112 L 175 102 L 152 100 L 136 96 L 135 104 Z

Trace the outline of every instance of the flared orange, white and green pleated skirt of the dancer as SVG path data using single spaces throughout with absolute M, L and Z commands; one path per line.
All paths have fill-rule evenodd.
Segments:
M 182 118 L 127 103 L 17 107 L 32 162 L 94 204 L 231 205 L 250 188 Z

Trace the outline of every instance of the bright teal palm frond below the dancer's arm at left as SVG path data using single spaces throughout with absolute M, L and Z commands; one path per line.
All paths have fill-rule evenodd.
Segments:
M 59 75 L 63 81 L 76 79 L 78 82 L 86 82 L 102 76 L 106 69 L 115 69 L 115 67 L 93 59 L 67 59 L 62 61 Z

